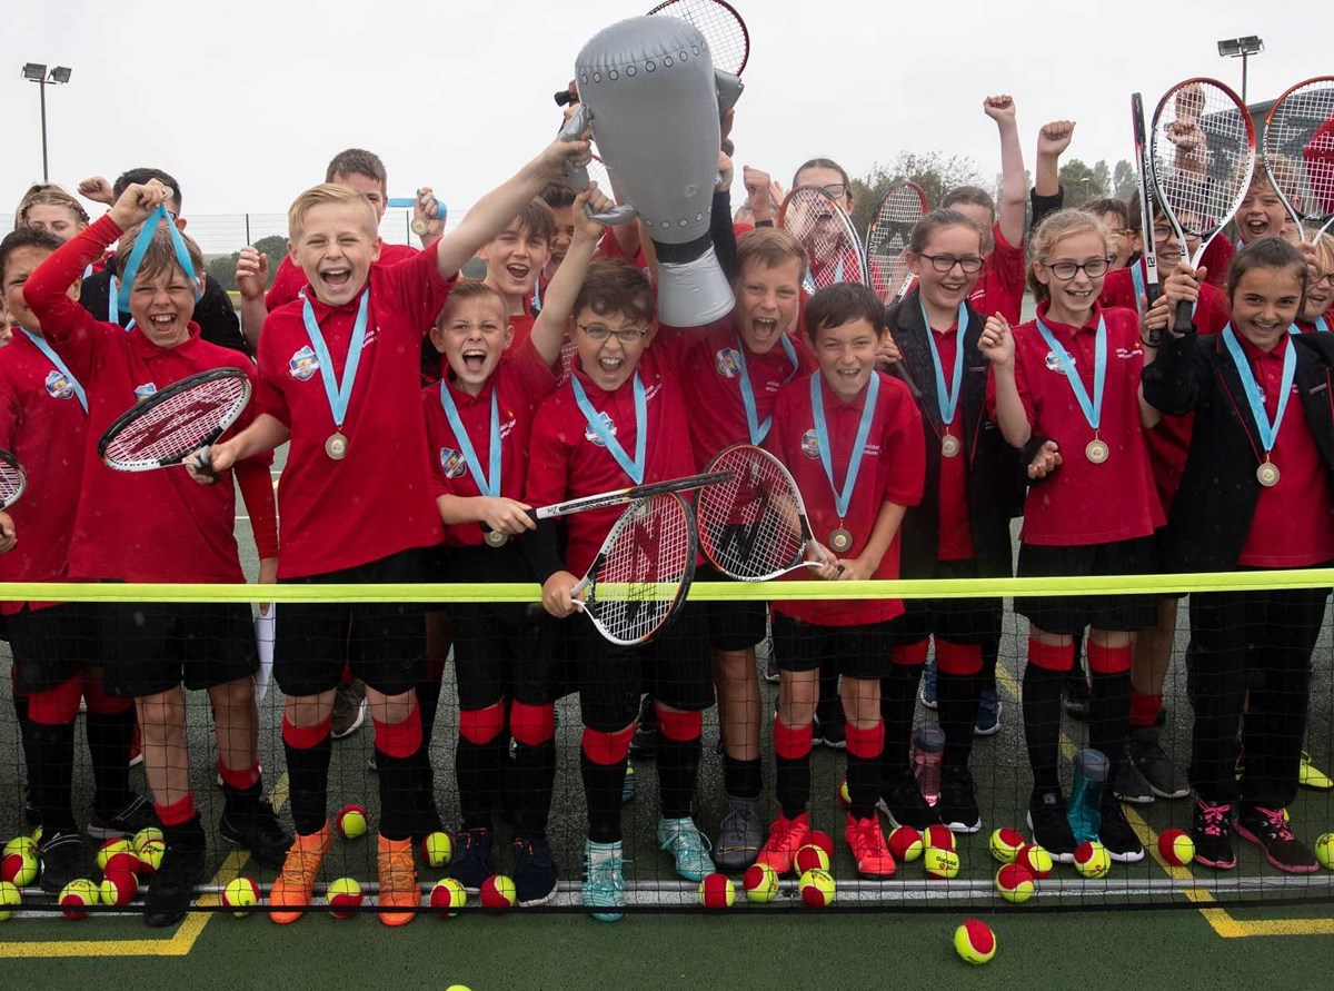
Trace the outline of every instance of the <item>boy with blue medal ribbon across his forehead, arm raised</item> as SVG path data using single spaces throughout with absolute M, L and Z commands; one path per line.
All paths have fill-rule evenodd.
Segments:
M 107 216 L 43 262 L 23 287 L 55 353 L 87 390 L 89 445 L 136 399 L 189 374 L 220 367 L 249 374 L 252 369 L 244 355 L 199 337 L 199 325 L 191 319 L 199 284 L 183 266 L 188 260 L 193 271 L 201 271 L 203 258 L 159 210 L 169 195 L 156 182 L 131 184 Z M 132 238 L 131 228 L 145 220 L 152 227 L 145 223 Z M 117 238 L 117 254 L 127 259 L 137 244 L 145 246 L 137 272 L 125 272 L 135 318 L 129 333 L 95 319 L 69 292 L 84 267 Z M 272 580 L 277 553 L 268 465 L 269 458 L 260 455 L 236 466 L 255 528 L 261 581 Z M 112 471 L 96 450 L 87 451 L 69 577 L 243 582 L 229 479 L 211 490 L 188 482 L 176 471 Z M 137 703 L 144 769 L 167 841 L 144 918 L 149 926 L 169 926 L 185 914 L 205 867 L 204 828 L 189 788 L 183 682 L 207 688 L 212 701 L 224 784 L 221 836 L 249 847 L 269 865 L 281 863 L 291 843 L 263 797 L 251 612 L 244 604 L 108 604 L 103 642 L 107 690 Z

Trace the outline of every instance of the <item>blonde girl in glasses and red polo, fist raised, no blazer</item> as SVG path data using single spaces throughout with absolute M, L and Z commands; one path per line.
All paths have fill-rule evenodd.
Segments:
M 995 419 L 1011 446 L 1055 442 L 1061 465 L 1029 489 L 1021 576 L 1141 574 L 1154 569 L 1154 528 L 1163 522 L 1143 426 L 1155 413 L 1139 398 L 1143 349 L 1131 310 L 1098 305 L 1110 264 L 1107 228 L 1075 210 L 1053 214 L 1033 235 L 1038 318 L 1011 333 L 991 317 L 979 350 L 991 362 Z M 1035 479 L 1037 481 L 1037 479 Z M 1089 740 L 1115 768 L 1123 757 L 1135 632 L 1153 625 L 1151 596 L 1017 597 L 1029 618 L 1023 723 L 1034 791 L 1034 841 L 1062 863 L 1074 857 L 1058 771 L 1061 686 L 1074 637 L 1090 628 L 1093 690 Z M 1107 789 L 1099 839 L 1114 860 L 1143 857 L 1139 839 Z

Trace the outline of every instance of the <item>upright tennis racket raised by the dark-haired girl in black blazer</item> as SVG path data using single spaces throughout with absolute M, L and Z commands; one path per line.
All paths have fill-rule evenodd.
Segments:
M 1158 102 L 1150 134 L 1154 190 L 1185 251 L 1199 238 L 1193 268 L 1241 206 L 1255 171 L 1255 124 L 1246 106 L 1217 79 L 1187 79 Z M 1153 236 L 1153 231 L 1149 231 Z M 1190 331 L 1191 306 L 1173 327 Z

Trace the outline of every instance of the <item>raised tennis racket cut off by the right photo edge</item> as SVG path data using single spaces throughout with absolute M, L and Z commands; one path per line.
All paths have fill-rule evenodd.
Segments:
M 1314 243 L 1334 223 L 1334 76 L 1307 79 L 1274 100 L 1261 155 L 1298 232 Z

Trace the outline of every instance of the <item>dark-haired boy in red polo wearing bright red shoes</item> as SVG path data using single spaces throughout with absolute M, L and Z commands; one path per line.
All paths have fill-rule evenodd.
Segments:
M 886 335 L 884 305 L 859 283 L 831 286 L 811 296 L 806 326 L 819 370 L 779 391 L 766 443 L 792 473 L 815 540 L 827 548 L 814 552 L 812 560 L 826 561 L 818 574 L 896 578 L 898 529 L 906 508 L 922 498 L 926 461 L 922 417 L 911 393 L 902 381 L 875 370 Z M 886 727 L 880 716 L 890 621 L 902 613 L 903 604 L 894 598 L 774 604 L 780 813 L 758 863 L 786 873 L 796 851 L 810 841 L 811 723 L 820 666 L 835 661 L 847 719 L 851 807 L 844 837 L 859 873 L 894 873 L 875 803 L 886 733 L 907 739 L 911 729 L 911 724 Z

